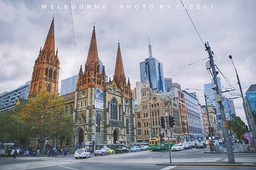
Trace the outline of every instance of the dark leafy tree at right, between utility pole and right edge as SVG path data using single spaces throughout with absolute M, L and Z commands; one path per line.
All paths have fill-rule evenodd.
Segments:
M 230 132 L 236 134 L 237 138 L 240 138 L 241 135 L 244 135 L 248 132 L 248 126 L 245 125 L 245 122 L 241 120 L 239 116 L 231 115 L 232 121 L 227 121 L 228 128 Z

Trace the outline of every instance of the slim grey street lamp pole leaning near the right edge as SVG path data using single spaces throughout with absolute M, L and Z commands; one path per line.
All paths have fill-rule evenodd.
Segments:
M 228 57 L 231 59 L 231 61 L 232 61 L 232 63 L 233 63 L 232 56 L 229 55 Z M 235 68 L 234 63 L 233 63 L 233 66 L 234 66 L 234 68 Z M 249 113 L 248 113 L 247 107 L 246 107 L 246 105 L 245 105 L 245 98 L 244 98 L 244 94 L 243 94 L 243 91 L 242 91 L 242 87 L 241 87 L 241 84 L 240 84 L 240 80 L 239 80 L 239 76 L 238 76 L 238 74 L 237 74 L 236 68 L 235 68 L 235 73 L 236 73 L 236 77 L 237 77 L 237 81 L 238 81 L 237 84 L 239 85 L 240 92 L 241 92 L 242 99 L 243 99 L 243 107 L 244 107 L 244 110 L 245 110 L 245 116 L 246 116 L 246 119 L 247 119 L 247 123 L 248 123 L 248 125 L 249 125 L 249 130 L 250 130 L 250 132 L 252 132 L 252 134 L 253 134 L 253 142 L 254 142 L 254 146 L 256 146 L 255 133 L 254 133 L 253 125 L 252 125 L 252 120 L 251 120 L 251 118 L 250 118 L 250 115 L 249 115 Z

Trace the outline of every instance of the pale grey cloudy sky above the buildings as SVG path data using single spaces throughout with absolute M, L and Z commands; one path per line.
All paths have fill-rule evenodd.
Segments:
M 256 84 L 256 1 L 183 3 L 202 41 L 208 41 L 214 51 L 215 64 L 238 89 L 228 58 L 232 55 L 245 93 L 251 84 Z M 44 45 L 53 15 L 61 67 L 59 82 L 77 74 L 80 65 L 84 67 L 94 23 L 98 55 L 111 79 L 120 41 L 125 73 L 135 87 L 135 82 L 140 81 L 139 63 L 148 58 L 149 37 L 153 57 L 163 63 L 164 77 L 171 77 L 182 89 L 203 89 L 203 84 L 211 82 L 205 67 L 208 54 L 180 0 L 71 0 L 71 7 L 76 51 L 69 0 L 0 0 L 0 93 L 31 80 L 34 61 Z M 223 75 L 219 76 L 223 87 L 230 89 Z M 198 92 L 198 96 L 204 104 L 203 94 Z M 236 98 L 234 103 L 237 115 L 245 121 L 242 99 Z

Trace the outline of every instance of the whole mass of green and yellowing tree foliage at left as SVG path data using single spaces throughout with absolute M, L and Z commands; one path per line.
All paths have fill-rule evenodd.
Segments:
M 62 146 L 71 137 L 74 127 L 73 118 L 65 114 L 64 102 L 64 98 L 53 97 L 42 90 L 36 97 L 29 98 L 24 108 L 17 105 L 15 109 L 1 114 L 0 140 L 21 141 L 22 138 L 27 142 L 28 137 L 36 137 L 43 150 L 45 140 L 49 139 L 56 139 Z

